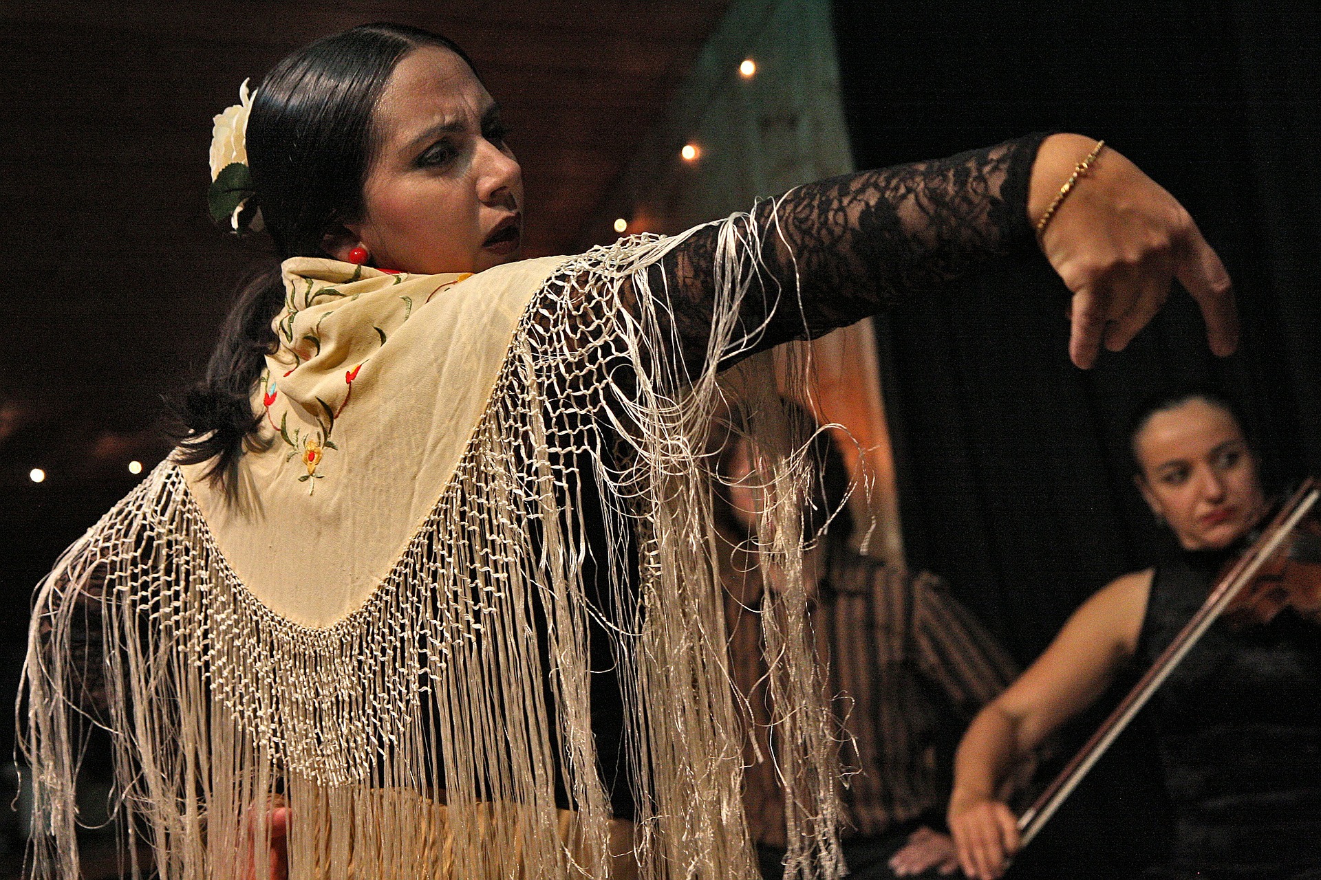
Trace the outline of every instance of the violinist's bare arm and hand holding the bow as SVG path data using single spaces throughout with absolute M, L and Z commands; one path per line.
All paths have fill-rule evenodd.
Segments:
M 1032 666 L 972 720 L 954 759 L 950 830 L 970 877 L 999 877 L 1020 846 L 997 792 L 1013 765 L 1087 708 L 1133 656 L 1151 570 L 1124 575 L 1089 599 Z

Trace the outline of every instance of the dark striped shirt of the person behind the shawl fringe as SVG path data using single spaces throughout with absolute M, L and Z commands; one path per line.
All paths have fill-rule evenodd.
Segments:
M 950 726 L 960 731 L 1017 670 L 939 578 L 904 575 L 840 544 L 828 553 L 812 620 L 845 728 L 840 757 L 856 770 L 843 793 L 852 823 L 845 835 L 876 836 L 945 809 L 948 792 L 941 780 L 948 770 L 937 768 L 937 734 L 951 732 Z M 733 674 L 750 701 L 762 751 L 748 756 L 744 802 L 753 836 L 783 846 L 761 631 L 745 603 L 760 594 L 761 578 L 749 562 L 738 549 L 723 559 Z

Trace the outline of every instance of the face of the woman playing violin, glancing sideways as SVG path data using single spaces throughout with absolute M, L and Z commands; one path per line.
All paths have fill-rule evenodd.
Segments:
M 1159 412 L 1133 438 L 1137 488 L 1185 550 L 1218 550 L 1266 508 L 1256 459 L 1234 417 L 1194 397 Z

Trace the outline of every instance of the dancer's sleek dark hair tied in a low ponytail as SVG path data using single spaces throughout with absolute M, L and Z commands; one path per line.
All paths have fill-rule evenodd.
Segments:
M 449 49 L 477 75 L 468 54 L 440 34 L 370 24 L 304 46 L 258 86 L 246 137 L 252 202 L 279 259 L 329 256 L 326 234 L 362 219 L 362 189 L 378 144 L 373 111 L 395 66 L 421 46 Z M 214 459 L 207 478 L 222 487 L 260 424 L 252 385 L 279 344 L 271 321 L 283 302 L 277 269 L 244 284 L 205 377 L 174 406 L 184 424 L 180 460 Z

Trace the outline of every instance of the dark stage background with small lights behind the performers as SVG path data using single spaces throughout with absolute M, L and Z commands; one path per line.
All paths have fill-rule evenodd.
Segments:
M 291 49 L 376 20 L 439 30 L 476 59 L 523 165 L 527 256 L 1029 131 L 1104 137 L 1170 189 L 1236 282 L 1232 358 L 1206 352 L 1180 294 L 1128 351 L 1075 369 L 1066 297 L 1041 260 L 876 326 L 898 499 L 888 546 L 947 578 L 1020 662 L 1098 586 L 1165 551 L 1122 441 L 1159 385 L 1207 380 L 1235 397 L 1277 482 L 1321 471 L 1314 4 L 8 0 L 0 703 L 32 587 L 169 451 L 162 396 L 197 376 L 235 284 L 271 259 L 207 218 L 211 116 Z M 1149 858 L 1160 793 L 1141 730 L 1125 740 L 1021 876 L 1123 876 Z M 0 756 L 12 744 L 0 724 Z M 95 759 L 89 773 L 94 817 Z M 15 780 L 0 772 L 4 803 Z M 0 817 L 0 877 L 17 876 L 25 830 Z M 89 876 L 115 876 L 110 842 L 89 846 L 103 854 Z

